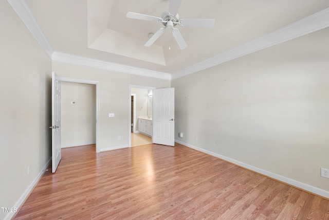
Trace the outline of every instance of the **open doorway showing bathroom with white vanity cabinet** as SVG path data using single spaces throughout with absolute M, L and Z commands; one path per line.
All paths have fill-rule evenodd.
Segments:
M 153 97 L 152 91 L 154 87 L 130 85 L 130 104 L 129 104 L 129 146 L 152 143 L 151 129 L 153 114 Z M 142 120 L 147 120 L 148 131 L 142 130 Z M 152 133 L 151 133 L 152 130 Z

